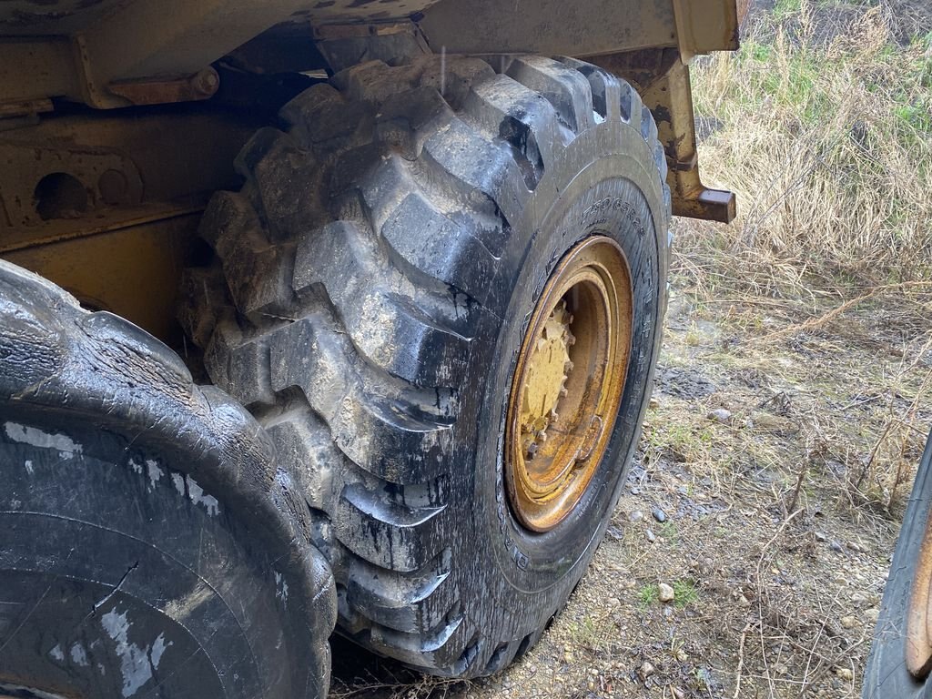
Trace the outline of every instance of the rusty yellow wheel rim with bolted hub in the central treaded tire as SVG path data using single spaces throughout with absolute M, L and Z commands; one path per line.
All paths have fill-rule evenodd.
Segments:
M 605 454 L 624 393 L 632 295 L 622 249 L 594 236 L 555 268 L 531 315 L 505 429 L 509 500 L 531 531 L 573 512 Z

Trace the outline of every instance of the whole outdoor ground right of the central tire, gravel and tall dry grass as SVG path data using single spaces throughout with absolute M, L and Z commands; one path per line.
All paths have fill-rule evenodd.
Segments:
M 568 609 L 499 677 L 353 658 L 335 697 L 860 695 L 932 427 L 932 11 L 780 0 L 748 32 L 693 68 L 740 218 L 676 225 L 641 454 Z

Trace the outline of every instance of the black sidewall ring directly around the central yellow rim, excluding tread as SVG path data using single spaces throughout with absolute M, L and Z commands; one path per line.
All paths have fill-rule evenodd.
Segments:
M 608 526 L 624 486 L 624 467 L 637 445 L 665 306 L 666 215 L 658 172 L 646 167 L 651 163 L 640 134 L 621 122 L 601 124 L 569 144 L 514 226 L 496 284 L 503 295 L 494 308 L 502 310 L 504 321 L 480 335 L 497 333 L 494 345 L 488 343 L 494 349 L 480 346 L 474 352 L 474 376 L 486 373 L 488 380 L 478 419 L 473 515 L 480 536 L 489 542 L 488 563 L 518 593 L 540 595 L 558 588 L 557 596 L 569 594 L 566 588 L 578 581 Z M 593 235 L 619 243 L 634 287 L 622 407 L 583 500 L 556 528 L 532 534 L 515 519 L 504 485 L 505 418 L 514 367 L 551 273 L 578 241 Z

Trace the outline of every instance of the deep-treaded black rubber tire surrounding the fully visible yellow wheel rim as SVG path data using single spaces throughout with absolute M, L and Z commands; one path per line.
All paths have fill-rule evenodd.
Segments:
M 566 603 L 637 445 L 670 215 L 651 113 L 582 62 L 431 56 L 350 68 L 281 120 L 212 199 L 219 264 L 187 275 L 182 320 L 299 474 L 342 632 L 495 672 Z M 596 237 L 629 270 L 624 394 L 578 501 L 526 526 L 504 457 L 515 366 L 548 279 Z

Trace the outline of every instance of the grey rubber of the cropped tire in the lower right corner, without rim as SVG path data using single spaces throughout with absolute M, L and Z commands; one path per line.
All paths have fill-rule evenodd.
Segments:
M 907 617 L 912 585 L 920 563 L 925 528 L 932 514 L 932 434 L 916 471 L 910 503 L 903 516 L 897 548 L 884 589 L 880 616 L 874 629 L 864 699 L 919 699 L 932 696 L 932 678 L 913 678 L 906 666 Z

